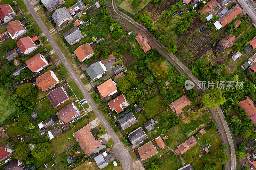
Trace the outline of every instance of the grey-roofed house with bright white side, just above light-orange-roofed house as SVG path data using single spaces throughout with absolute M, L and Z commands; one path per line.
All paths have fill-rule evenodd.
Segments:
M 104 74 L 107 71 L 106 67 L 101 62 L 93 63 L 85 70 L 92 80 L 101 78 L 102 74 Z

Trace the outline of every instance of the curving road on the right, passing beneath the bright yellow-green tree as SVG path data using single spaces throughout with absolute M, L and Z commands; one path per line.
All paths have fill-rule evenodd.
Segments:
M 180 60 L 175 55 L 173 55 L 169 51 L 167 51 L 165 49 L 165 47 L 162 45 L 162 43 L 160 41 L 156 40 L 156 38 L 151 33 L 149 33 L 148 30 L 144 26 L 138 24 L 131 17 L 129 17 L 128 15 L 126 15 L 123 12 L 119 11 L 117 9 L 117 7 L 116 7 L 115 0 L 111 0 L 111 3 L 112 3 L 112 7 L 110 7 L 108 9 L 108 12 L 110 12 L 110 14 L 111 14 L 111 11 L 114 11 L 115 13 L 111 14 L 111 15 L 116 20 L 118 20 L 119 22 L 123 22 L 123 23 L 127 23 L 126 20 L 131 22 L 132 24 L 128 24 L 127 23 L 127 27 L 129 29 L 133 29 L 133 30 L 135 30 L 136 33 L 140 33 L 140 34 L 142 34 L 142 36 L 146 37 L 148 39 L 148 41 L 150 42 L 149 44 L 150 44 L 151 48 L 156 48 L 157 51 L 159 53 L 161 53 L 166 60 L 168 60 L 170 63 L 172 63 L 172 65 L 180 72 L 180 74 L 182 74 L 185 77 L 187 77 L 188 79 L 192 80 L 195 83 L 195 87 L 198 85 L 199 80 L 188 70 L 188 68 L 182 62 L 180 62 Z M 120 17 L 119 18 L 115 17 L 115 14 L 121 16 L 122 18 L 124 18 L 126 20 L 124 20 L 124 19 L 122 19 Z M 204 92 L 210 92 L 208 89 L 204 89 L 203 91 Z M 202 93 L 202 91 L 200 93 Z M 210 110 L 212 112 L 212 117 L 213 117 L 215 123 L 218 126 L 219 133 L 223 134 L 223 135 L 221 135 L 222 142 L 225 145 L 230 144 L 230 148 L 231 148 L 231 165 L 230 165 L 230 161 L 226 161 L 225 168 L 227 168 L 228 170 L 229 169 L 235 170 L 236 169 L 235 146 L 233 144 L 233 139 L 231 137 L 231 133 L 230 133 L 229 128 L 228 128 L 228 124 L 227 124 L 226 121 L 224 121 L 223 112 L 222 112 L 220 107 L 217 108 L 217 111 L 216 111 L 216 109 L 210 109 Z M 230 155 L 229 150 L 227 150 L 227 152 Z

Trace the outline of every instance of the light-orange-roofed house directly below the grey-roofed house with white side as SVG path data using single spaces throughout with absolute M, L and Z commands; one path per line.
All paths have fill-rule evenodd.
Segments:
M 99 85 L 97 88 L 102 97 L 111 96 L 117 92 L 117 87 L 111 78 Z

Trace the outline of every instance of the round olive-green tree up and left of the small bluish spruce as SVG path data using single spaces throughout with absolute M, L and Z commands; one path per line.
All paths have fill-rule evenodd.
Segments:
M 52 147 L 49 143 L 38 143 L 35 145 L 35 148 L 32 150 L 32 155 L 34 158 L 42 160 L 45 159 L 48 155 L 50 155 L 50 152 L 52 150 Z

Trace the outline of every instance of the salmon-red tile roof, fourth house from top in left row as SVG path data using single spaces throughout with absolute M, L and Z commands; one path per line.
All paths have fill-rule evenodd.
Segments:
M 43 61 L 43 59 L 40 57 L 40 54 L 36 54 L 33 57 L 29 58 L 27 61 L 27 67 L 32 72 L 35 72 L 36 70 L 43 67 L 46 63 Z

